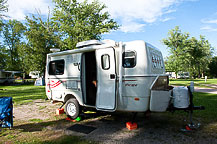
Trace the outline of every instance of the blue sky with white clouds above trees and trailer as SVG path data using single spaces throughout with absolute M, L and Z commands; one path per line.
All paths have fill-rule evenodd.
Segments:
M 99 1 L 107 6 L 106 11 L 120 25 L 117 31 L 103 34 L 103 39 L 144 40 L 160 49 L 166 57 L 168 48 L 161 40 L 168 36 L 169 30 L 179 26 L 191 37 L 205 36 L 217 51 L 217 0 Z M 8 18 L 20 21 L 37 12 L 47 15 L 54 7 L 52 0 L 8 0 L 8 5 Z

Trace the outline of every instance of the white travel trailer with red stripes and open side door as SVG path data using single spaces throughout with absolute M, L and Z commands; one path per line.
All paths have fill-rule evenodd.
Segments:
M 66 103 L 68 116 L 76 118 L 82 107 L 109 112 L 168 109 L 172 88 L 157 48 L 139 40 L 90 40 L 76 47 L 47 55 L 47 97 Z M 177 108 L 186 108 L 184 99 Z

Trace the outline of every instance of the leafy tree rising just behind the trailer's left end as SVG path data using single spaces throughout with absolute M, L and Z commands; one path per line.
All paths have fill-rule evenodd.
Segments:
M 30 71 L 45 71 L 46 56 L 51 48 L 59 47 L 60 39 L 55 34 L 56 31 L 48 16 L 46 21 L 42 18 L 32 16 L 26 17 L 27 31 L 25 35 L 28 39 L 27 45 L 22 46 L 22 59 L 24 70 Z

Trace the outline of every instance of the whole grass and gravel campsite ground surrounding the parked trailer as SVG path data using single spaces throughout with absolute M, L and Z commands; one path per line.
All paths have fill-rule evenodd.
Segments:
M 182 82 L 181 82 L 182 81 Z M 208 80 L 208 83 L 216 82 Z M 183 80 L 172 83 L 189 84 Z M 204 80 L 197 85 L 203 87 Z M 195 111 L 194 121 L 201 123 L 198 130 L 182 132 L 188 115 L 184 112 L 139 114 L 138 129 L 128 130 L 125 123 L 129 113 L 87 112 L 81 121 L 66 120 L 66 114 L 56 115 L 61 103 L 52 104 L 45 100 L 44 86 L 18 85 L 0 86 L 2 96 L 12 96 L 14 101 L 14 127 L 1 129 L 0 143 L 216 143 L 217 113 L 216 94 L 195 92 L 195 104 L 204 105 L 206 110 Z M 85 131 L 71 131 L 73 125 L 95 128 Z

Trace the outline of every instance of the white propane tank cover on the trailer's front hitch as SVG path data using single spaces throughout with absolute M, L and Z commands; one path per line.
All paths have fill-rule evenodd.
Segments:
M 173 88 L 173 106 L 187 108 L 189 106 L 189 93 L 187 87 Z

